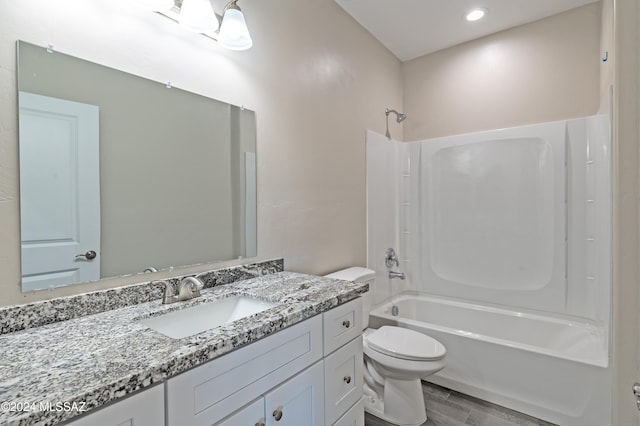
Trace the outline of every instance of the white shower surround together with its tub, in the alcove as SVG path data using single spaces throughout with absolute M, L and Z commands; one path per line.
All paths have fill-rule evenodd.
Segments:
M 563 425 L 610 423 L 609 129 L 608 116 L 593 116 L 410 143 L 367 133 L 367 260 L 388 282 L 377 286 L 375 301 L 458 303 L 457 313 L 439 309 L 428 320 L 380 316 L 458 352 L 430 381 Z M 407 280 L 387 278 L 388 247 Z M 472 313 L 491 309 L 504 315 L 478 332 Z M 448 315 L 456 327 L 443 331 Z M 518 339 L 502 338 L 524 316 L 540 319 L 542 334 L 527 328 Z M 591 330 L 597 356 L 574 353 L 580 342 L 571 336 L 580 333 L 546 336 L 573 355 L 532 351 L 533 340 L 545 339 L 546 320 Z M 568 365 L 575 378 L 549 381 Z M 558 399 L 576 393 L 582 397 Z

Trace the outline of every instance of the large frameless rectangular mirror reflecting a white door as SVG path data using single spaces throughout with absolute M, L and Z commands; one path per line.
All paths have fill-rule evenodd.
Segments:
M 22 289 L 256 256 L 253 111 L 18 42 Z

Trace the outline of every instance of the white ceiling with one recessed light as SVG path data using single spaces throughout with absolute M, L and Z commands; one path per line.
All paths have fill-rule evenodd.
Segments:
M 401 61 L 598 0 L 335 0 Z M 487 10 L 466 22 L 473 8 Z

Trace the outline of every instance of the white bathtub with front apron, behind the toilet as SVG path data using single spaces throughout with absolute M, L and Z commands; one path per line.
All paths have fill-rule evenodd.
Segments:
M 433 383 L 560 425 L 611 424 L 604 327 L 411 292 L 371 312 L 370 327 L 385 324 L 447 348 Z

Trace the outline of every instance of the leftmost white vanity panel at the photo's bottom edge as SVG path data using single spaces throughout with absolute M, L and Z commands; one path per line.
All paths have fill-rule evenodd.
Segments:
M 67 426 L 158 426 L 164 425 L 164 386 L 143 390 L 122 401 L 98 409 Z

